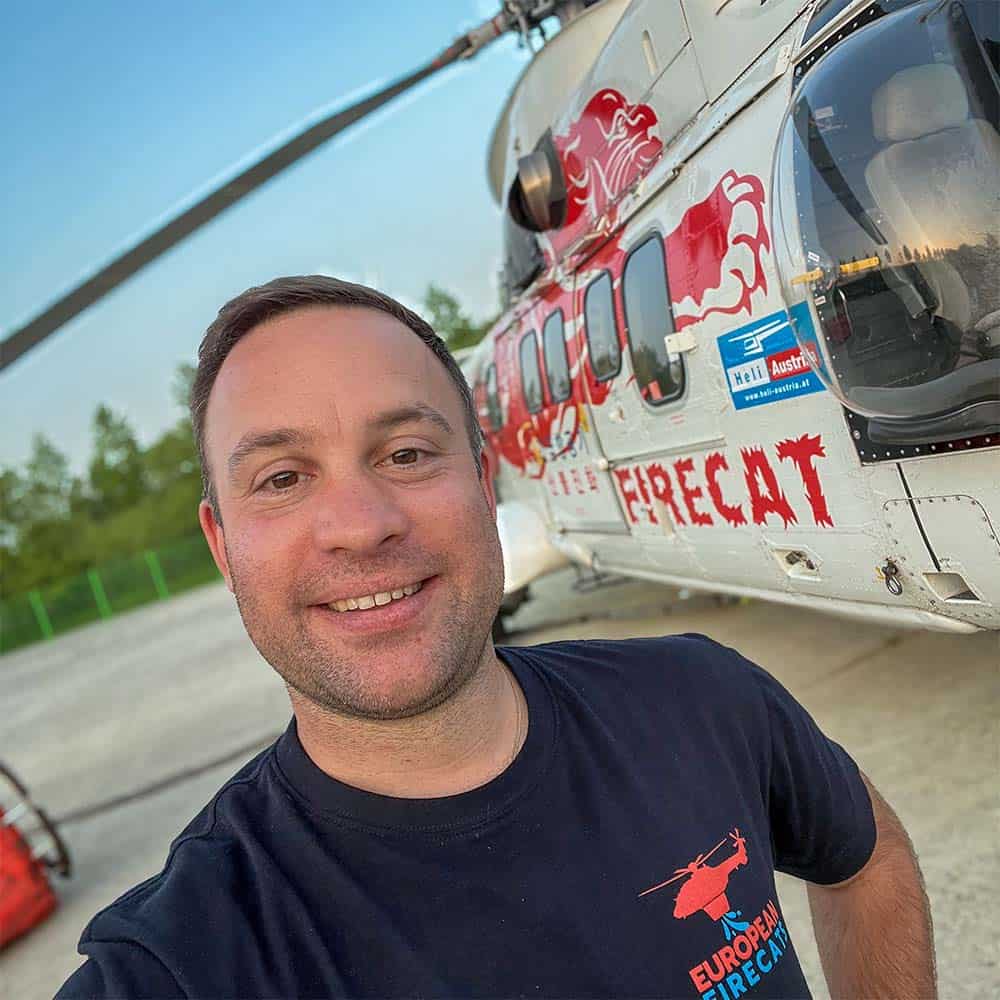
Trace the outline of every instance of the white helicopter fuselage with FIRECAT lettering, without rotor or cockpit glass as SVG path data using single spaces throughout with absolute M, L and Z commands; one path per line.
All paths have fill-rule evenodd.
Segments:
M 863 305 L 872 274 L 885 275 L 871 285 L 878 302 L 889 284 L 911 287 L 890 273 L 888 238 L 881 260 L 863 247 L 859 260 L 841 255 L 840 277 L 823 286 L 804 235 L 807 215 L 864 215 L 844 193 L 850 178 L 873 178 L 878 155 L 901 156 L 904 143 L 835 171 L 848 178 L 839 205 L 776 224 L 794 194 L 776 178 L 798 169 L 781 158 L 796 88 L 874 23 L 870 6 L 839 4 L 804 40 L 816 5 L 801 0 L 605 0 L 515 88 L 494 134 L 494 192 L 509 206 L 526 190 L 523 158 L 543 147 L 563 190 L 560 224 L 537 227 L 534 273 L 520 286 L 515 274 L 509 308 L 463 361 L 497 468 L 509 592 L 571 561 L 874 622 L 1000 629 L 1000 433 L 887 440 L 845 405 L 846 376 L 824 377 L 841 364 L 840 342 L 808 339 L 825 331 L 834 293 Z M 919 84 L 931 72 L 921 70 L 890 83 Z M 853 127 L 846 119 L 831 105 L 810 121 L 832 142 Z M 929 281 L 952 274 L 950 252 L 927 248 Z M 921 321 L 943 328 L 940 288 Z M 988 303 L 972 298 L 985 320 L 968 322 L 987 347 L 970 365 L 992 371 Z M 845 329 L 871 372 L 898 352 L 881 350 L 887 341 L 860 352 L 862 305 Z M 887 391 L 903 384 L 892 378 Z

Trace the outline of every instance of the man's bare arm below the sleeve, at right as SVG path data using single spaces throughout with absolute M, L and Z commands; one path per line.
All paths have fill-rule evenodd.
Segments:
M 862 776 L 864 777 L 864 776 Z M 823 972 L 836 1000 L 934 1000 L 930 906 L 910 838 L 865 778 L 877 840 L 868 863 L 833 886 L 808 885 Z

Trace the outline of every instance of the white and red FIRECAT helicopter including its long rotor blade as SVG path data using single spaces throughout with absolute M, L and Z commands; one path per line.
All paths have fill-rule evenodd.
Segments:
M 0 368 L 510 32 L 542 44 L 487 153 L 504 309 L 461 359 L 503 610 L 575 565 L 1000 629 L 993 2 L 510 0 L 141 238 L 14 330 Z

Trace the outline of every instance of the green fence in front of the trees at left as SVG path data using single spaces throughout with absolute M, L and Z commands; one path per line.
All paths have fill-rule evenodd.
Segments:
M 201 535 L 0 600 L 0 653 L 219 579 Z

